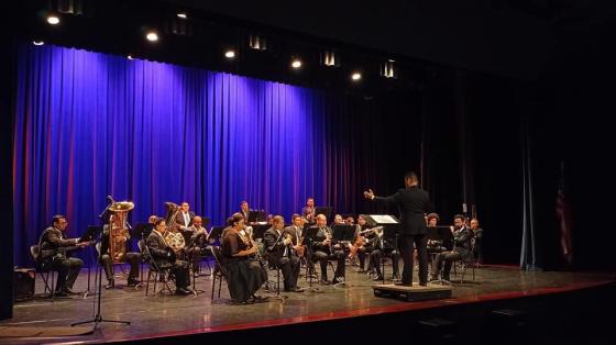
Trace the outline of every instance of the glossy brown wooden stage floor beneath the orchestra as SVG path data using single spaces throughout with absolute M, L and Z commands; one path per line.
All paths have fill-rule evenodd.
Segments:
M 387 268 L 391 271 L 391 268 Z M 284 301 L 267 300 L 249 305 L 229 304 L 229 294 L 223 283 L 221 298 L 210 300 L 210 277 L 197 278 L 197 289 L 205 290 L 197 297 L 183 296 L 147 296 L 145 289 L 123 289 L 125 280 L 117 279 L 117 288 L 103 290 L 102 316 L 111 320 L 130 321 L 131 325 L 101 323 L 91 335 L 70 337 L 2 337 L 0 343 L 55 343 L 55 342 L 107 342 L 107 341 L 155 341 L 168 336 L 209 336 L 229 332 L 243 334 L 253 329 L 268 330 L 276 326 L 295 326 L 295 334 L 301 330 L 321 329 L 324 324 L 340 321 L 364 320 L 351 323 L 361 327 L 365 320 L 377 315 L 409 315 L 418 318 L 444 318 L 451 315 L 451 308 L 473 309 L 473 305 L 492 303 L 497 308 L 504 301 L 527 300 L 534 297 L 564 296 L 575 291 L 592 291 L 602 287 L 614 286 L 613 274 L 595 272 L 554 272 L 522 271 L 516 267 L 484 266 L 476 269 L 475 280 L 466 272 L 463 283 L 453 283 L 452 298 L 422 302 L 404 302 L 396 299 L 374 297 L 371 288 L 374 282 L 365 274 L 356 272 L 356 267 L 348 267 L 346 286 L 319 286 L 317 292 L 285 292 Z M 415 277 L 417 272 L 415 272 Z M 275 279 L 275 272 L 271 272 Z M 94 282 L 94 279 L 92 279 Z M 299 285 L 308 287 L 300 278 Z M 86 290 L 87 269 L 82 269 L 75 290 Z M 151 287 L 152 288 L 152 287 Z M 36 279 L 36 292 L 43 291 L 40 277 Z M 152 291 L 150 291 L 152 293 Z M 262 291 L 262 296 L 270 293 Z M 68 326 L 74 321 L 91 318 L 96 297 L 75 297 L 70 300 L 44 299 L 18 302 L 14 318 L 0 322 L 4 326 Z M 482 304 L 483 303 L 483 304 Z M 496 303 L 496 304 L 495 304 Z M 534 305 L 539 305 L 534 302 Z M 549 305 L 550 301 L 546 302 Z M 524 303 L 518 303 L 522 305 Z M 485 307 L 474 308 L 485 310 Z M 460 312 L 460 311 L 459 311 Z M 420 316 L 419 316 L 420 315 Z M 360 316 L 360 318 L 358 318 Z M 366 318 L 361 318 L 366 316 Z M 383 324 L 385 319 L 374 319 L 375 324 Z M 369 321 L 370 322 L 370 321 Z M 344 324 L 340 330 L 344 330 Z M 306 327 L 306 325 L 311 325 Z M 346 325 L 348 326 L 348 325 Z M 387 327 L 385 325 L 385 327 Z M 361 330 L 360 330 L 361 331 Z M 222 333 L 221 333 L 222 332 Z M 206 337 L 207 340 L 207 337 Z

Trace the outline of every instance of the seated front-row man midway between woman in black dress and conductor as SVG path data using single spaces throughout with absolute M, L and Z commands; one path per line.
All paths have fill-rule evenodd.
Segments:
M 317 215 L 317 227 L 319 231 L 315 236 L 312 249 L 315 252 L 314 258 L 321 264 L 321 283 L 329 283 L 327 279 L 327 266 L 329 259 L 338 260 L 336 272 L 333 275 L 332 283 L 342 282 L 344 280 L 344 259 L 345 255 L 340 244 L 332 243 L 332 231 L 327 224 L 327 216 L 324 214 Z

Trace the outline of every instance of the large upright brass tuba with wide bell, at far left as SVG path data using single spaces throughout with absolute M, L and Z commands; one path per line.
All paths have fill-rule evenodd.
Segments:
M 109 256 L 113 264 L 123 263 L 127 256 L 127 241 L 131 237 L 129 233 L 129 212 L 134 209 L 130 201 L 113 201 L 108 211 L 109 219 Z

